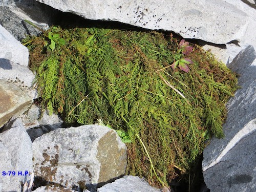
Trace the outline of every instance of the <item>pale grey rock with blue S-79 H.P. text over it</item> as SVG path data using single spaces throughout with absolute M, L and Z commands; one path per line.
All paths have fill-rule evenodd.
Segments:
M 33 172 L 33 162 L 32 142 L 19 119 L 0 133 L 0 151 L 0 191 L 21 191 Z

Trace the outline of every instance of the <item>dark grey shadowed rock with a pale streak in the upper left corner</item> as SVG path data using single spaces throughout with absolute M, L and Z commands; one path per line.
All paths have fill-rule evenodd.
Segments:
M 38 29 L 26 23 L 25 19 L 46 30 L 53 16 L 48 6 L 33 0 L 0 1 L 0 12 L 0 24 L 17 40 L 40 33 Z

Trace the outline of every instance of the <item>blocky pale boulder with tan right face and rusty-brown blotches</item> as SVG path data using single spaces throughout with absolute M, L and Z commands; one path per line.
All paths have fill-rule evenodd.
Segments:
M 35 176 L 71 188 L 95 189 L 124 174 L 126 146 L 114 130 L 100 125 L 57 129 L 33 142 Z

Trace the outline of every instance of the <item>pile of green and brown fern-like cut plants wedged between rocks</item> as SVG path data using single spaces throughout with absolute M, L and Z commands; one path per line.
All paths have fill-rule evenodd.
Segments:
M 223 137 L 236 75 L 199 46 L 155 31 L 60 27 L 24 42 L 42 108 L 118 130 L 126 174 L 168 186 L 207 138 Z

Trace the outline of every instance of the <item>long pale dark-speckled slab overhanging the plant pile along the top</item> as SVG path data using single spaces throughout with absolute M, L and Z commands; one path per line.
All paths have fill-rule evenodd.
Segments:
M 240 40 L 249 25 L 245 12 L 222 0 L 36 1 L 88 19 L 174 31 L 184 38 L 215 44 Z

